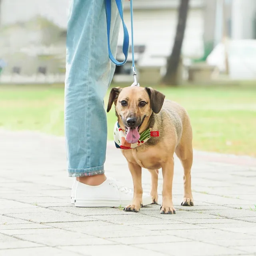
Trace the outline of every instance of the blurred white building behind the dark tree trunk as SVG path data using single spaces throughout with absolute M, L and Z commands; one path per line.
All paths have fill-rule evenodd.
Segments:
M 182 54 L 185 57 L 200 58 L 204 54 L 204 2 L 204 0 L 190 1 L 182 46 Z M 176 34 L 179 4 L 179 0 L 134 1 L 134 44 L 141 46 L 138 48 L 142 50 L 142 53 L 136 54 L 138 66 L 166 66 L 166 59 L 172 51 Z M 124 19 L 130 33 L 129 2 L 126 2 L 124 8 Z M 122 38 L 122 30 L 120 30 L 119 45 L 122 45 Z M 119 56 L 122 54 L 118 54 Z M 131 61 L 131 56 L 128 60 Z M 130 66 L 131 62 L 128 61 L 120 69 L 128 72 Z

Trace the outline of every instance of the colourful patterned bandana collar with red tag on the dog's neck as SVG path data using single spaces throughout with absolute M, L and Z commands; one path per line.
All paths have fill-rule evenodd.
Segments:
M 138 142 L 136 143 L 129 143 L 125 140 L 126 134 L 124 130 L 120 127 L 118 122 L 116 122 L 114 126 L 114 140 L 116 148 L 121 149 L 131 149 L 131 148 L 137 148 L 138 146 L 141 146 L 143 143 L 145 143 L 147 140 L 149 140 L 151 137 L 159 137 L 159 132 L 152 132 L 151 128 L 148 128 L 142 134 L 140 134 L 140 138 Z

